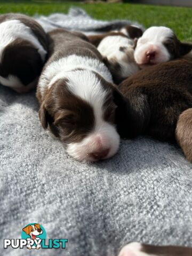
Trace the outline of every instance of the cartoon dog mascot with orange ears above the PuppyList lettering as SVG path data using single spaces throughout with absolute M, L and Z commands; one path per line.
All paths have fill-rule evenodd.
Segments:
M 43 230 L 38 223 L 31 223 L 25 228 L 22 229 L 27 236 L 30 238 L 26 238 L 28 241 L 27 248 L 30 249 L 39 249 L 41 247 L 41 238 L 39 235 L 43 234 Z M 39 243 L 38 243 L 39 242 Z

